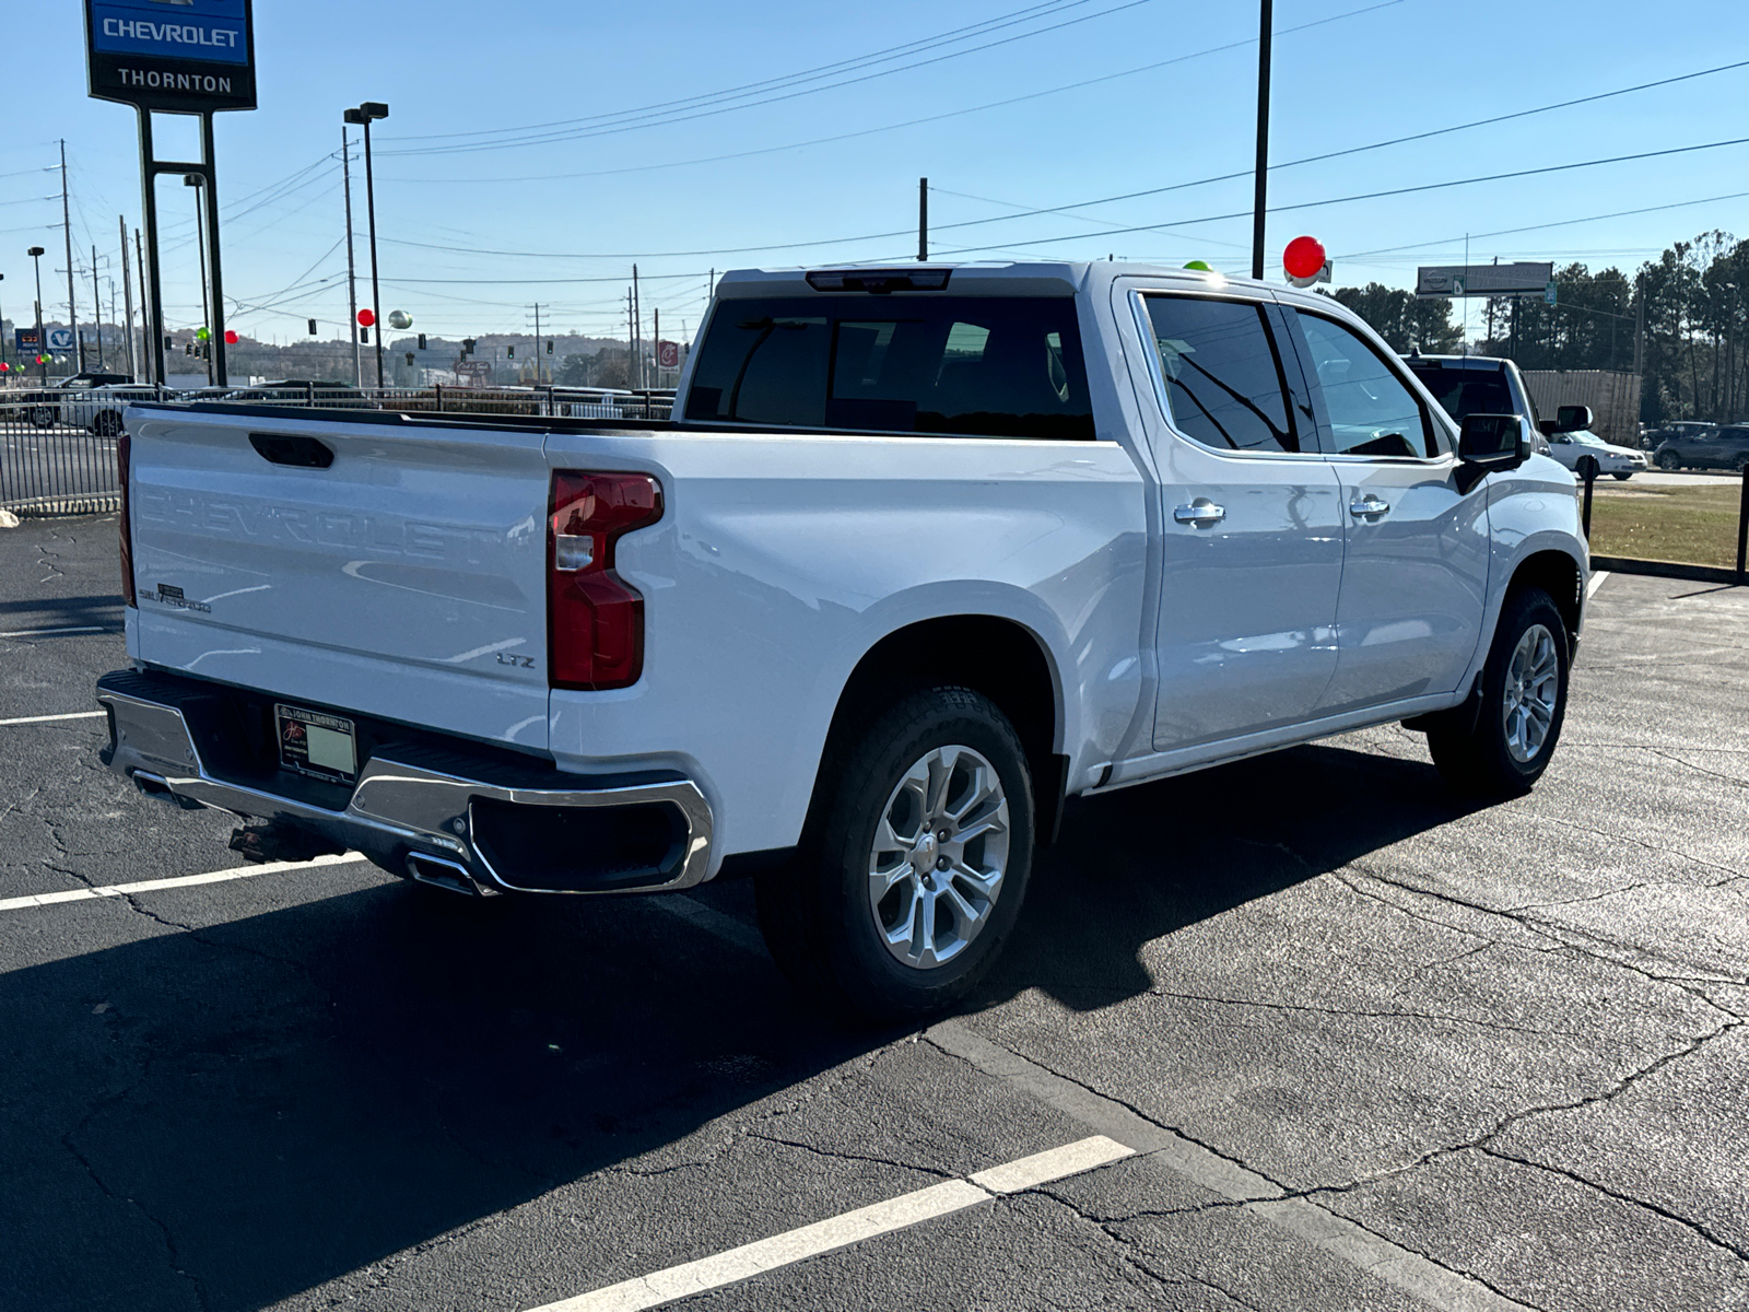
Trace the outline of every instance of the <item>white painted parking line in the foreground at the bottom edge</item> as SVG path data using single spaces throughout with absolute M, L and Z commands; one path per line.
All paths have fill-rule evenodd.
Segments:
M 651 1275 L 610 1284 L 575 1298 L 547 1303 L 533 1312 L 640 1312 L 675 1298 L 689 1298 L 708 1289 L 745 1281 L 750 1275 L 817 1258 L 822 1253 L 861 1244 L 866 1239 L 890 1235 L 895 1230 L 930 1221 L 937 1216 L 962 1212 L 1004 1193 L 1030 1190 L 1083 1170 L 1093 1170 L 1111 1162 L 1132 1156 L 1133 1151 L 1104 1135 L 1081 1139 L 1053 1148 L 1048 1153 L 1009 1162 L 990 1170 L 979 1170 L 971 1179 L 950 1179 L 925 1190 L 906 1193 L 873 1207 L 841 1212 L 812 1226 L 789 1230 L 771 1239 L 743 1244 L 714 1258 L 686 1261 Z

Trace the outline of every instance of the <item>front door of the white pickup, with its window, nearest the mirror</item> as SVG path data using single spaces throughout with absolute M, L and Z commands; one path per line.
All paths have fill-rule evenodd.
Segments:
M 1453 691 L 1481 633 L 1485 485 L 1459 493 L 1446 429 L 1385 352 L 1338 318 L 1289 315 L 1347 527 L 1320 714 Z

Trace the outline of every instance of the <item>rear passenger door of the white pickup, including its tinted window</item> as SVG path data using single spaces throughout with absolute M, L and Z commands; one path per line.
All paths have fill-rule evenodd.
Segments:
M 1256 301 L 1142 294 L 1168 425 L 1154 749 L 1307 719 L 1336 668 L 1341 506 Z M 1289 348 L 1291 350 L 1291 348 Z M 1293 373 L 1298 383 L 1298 371 Z

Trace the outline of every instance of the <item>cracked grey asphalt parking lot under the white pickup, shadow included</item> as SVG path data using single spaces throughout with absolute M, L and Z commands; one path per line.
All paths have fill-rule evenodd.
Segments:
M 0 1307 L 1749 1309 L 1749 590 L 1606 579 L 1520 801 L 1382 728 L 1072 806 L 866 1034 L 742 883 L 87 896 L 241 866 L 38 719 L 115 574 L 0 532 Z

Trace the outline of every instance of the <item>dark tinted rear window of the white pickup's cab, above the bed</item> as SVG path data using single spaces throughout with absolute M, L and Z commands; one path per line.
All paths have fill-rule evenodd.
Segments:
M 686 418 L 778 429 L 1093 437 L 1069 297 L 722 301 Z

